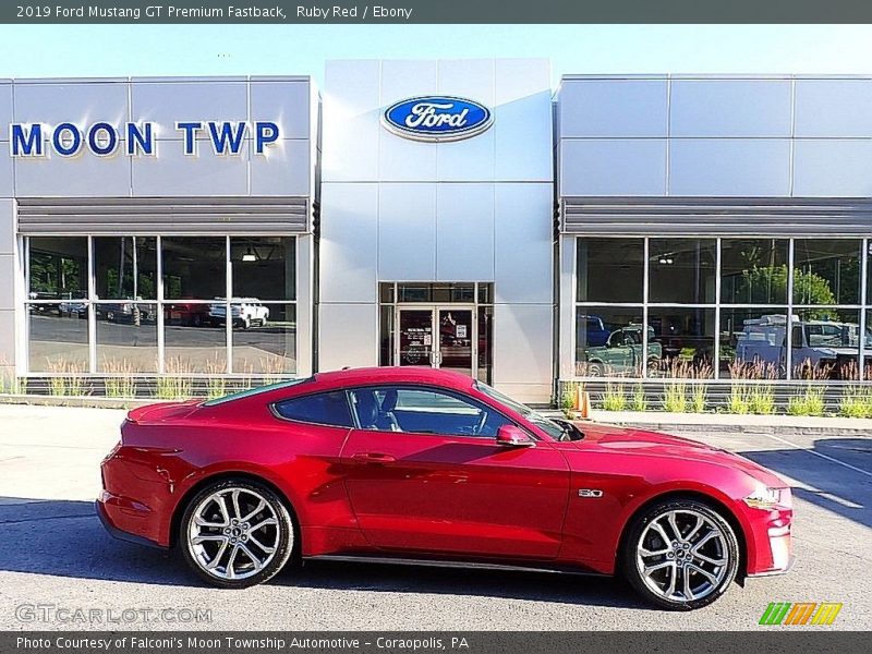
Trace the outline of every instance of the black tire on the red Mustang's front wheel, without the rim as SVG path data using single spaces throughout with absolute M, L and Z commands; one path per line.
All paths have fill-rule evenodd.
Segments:
M 640 540 L 645 532 L 645 528 L 647 528 L 652 521 L 657 520 L 658 518 L 667 517 L 671 511 L 689 511 L 701 514 L 711 521 L 712 525 L 716 526 L 723 535 L 723 554 L 726 558 L 726 564 L 723 566 L 723 578 L 719 579 L 717 584 L 711 584 L 711 591 L 699 598 L 668 598 L 663 594 L 655 592 L 645 583 L 643 573 L 638 566 L 637 552 L 641 545 Z M 666 543 L 665 546 L 670 547 L 670 544 Z M 675 560 L 677 561 L 678 559 Z M 727 591 L 732 581 L 736 579 L 740 560 L 741 556 L 736 532 L 730 523 L 723 517 L 719 509 L 716 509 L 712 505 L 699 499 L 673 498 L 653 504 L 633 519 L 633 522 L 629 525 L 629 531 L 627 532 L 627 537 L 625 538 L 623 547 L 620 553 L 620 570 L 628 583 L 646 602 L 670 610 L 693 610 L 697 608 L 702 608 L 703 606 L 707 606 Z M 687 572 L 682 571 L 681 576 L 686 573 Z M 692 574 L 698 576 L 699 573 L 692 572 Z M 697 578 L 700 579 L 699 577 Z M 691 577 L 691 579 L 693 579 L 693 577 Z

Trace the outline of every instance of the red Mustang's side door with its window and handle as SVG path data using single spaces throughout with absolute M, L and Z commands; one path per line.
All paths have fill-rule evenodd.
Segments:
M 569 469 L 546 440 L 506 447 L 511 424 L 465 395 L 380 386 L 351 391 L 356 428 L 341 452 L 358 524 L 377 548 L 552 558 Z

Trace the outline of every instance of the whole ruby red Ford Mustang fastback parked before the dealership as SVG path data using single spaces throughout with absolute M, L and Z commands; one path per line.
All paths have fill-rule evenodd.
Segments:
M 135 409 L 102 482 L 113 535 L 178 544 L 228 588 L 291 558 L 413 559 L 620 573 L 691 609 L 792 562 L 790 489 L 766 469 L 664 434 L 582 432 L 431 368 Z

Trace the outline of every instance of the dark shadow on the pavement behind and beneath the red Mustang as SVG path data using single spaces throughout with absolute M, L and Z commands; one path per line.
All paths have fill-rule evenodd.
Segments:
M 203 586 L 178 552 L 111 537 L 89 501 L 0 497 L 0 534 L 27 547 L 0 548 L 0 571 L 173 586 Z M 289 566 L 269 584 L 385 593 L 438 593 L 573 605 L 645 608 L 607 577 L 346 561 Z

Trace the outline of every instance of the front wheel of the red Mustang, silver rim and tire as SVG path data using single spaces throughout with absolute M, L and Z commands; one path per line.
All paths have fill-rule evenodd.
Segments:
M 739 544 L 729 522 L 707 504 L 664 500 L 630 525 L 621 562 L 645 600 L 691 610 L 717 600 L 736 579 Z

